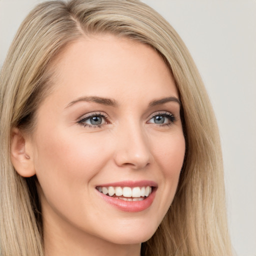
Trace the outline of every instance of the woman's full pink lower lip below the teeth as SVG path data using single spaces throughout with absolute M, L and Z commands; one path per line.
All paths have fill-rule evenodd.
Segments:
M 124 201 L 122 199 L 117 199 L 115 197 L 111 197 L 108 195 L 105 195 L 97 190 L 99 195 L 108 203 L 112 204 L 114 207 L 116 207 L 119 210 L 122 211 L 129 211 L 129 212 L 138 212 L 147 209 L 153 202 L 154 196 L 155 196 L 155 190 L 154 187 L 152 189 L 152 192 L 143 200 L 141 201 Z

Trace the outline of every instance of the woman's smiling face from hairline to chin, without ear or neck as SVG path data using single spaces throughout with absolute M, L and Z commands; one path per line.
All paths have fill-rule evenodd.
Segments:
M 111 35 L 72 43 L 52 66 L 31 137 L 45 235 L 147 240 L 185 151 L 168 68 L 148 45 Z

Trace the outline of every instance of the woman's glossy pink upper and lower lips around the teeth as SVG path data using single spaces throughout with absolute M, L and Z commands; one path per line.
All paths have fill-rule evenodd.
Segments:
M 99 196 L 104 199 L 107 203 L 113 205 L 119 210 L 128 211 L 128 212 L 138 212 L 147 209 L 153 202 L 155 192 L 157 189 L 157 184 L 153 181 L 148 180 L 141 180 L 141 181 L 121 181 L 121 182 L 114 182 L 108 184 L 100 184 L 100 186 L 153 186 L 152 192 L 149 194 L 148 197 L 143 199 L 142 201 L 124 201 L 115 197 L 111 197 L 99 192 L 97 189 Z

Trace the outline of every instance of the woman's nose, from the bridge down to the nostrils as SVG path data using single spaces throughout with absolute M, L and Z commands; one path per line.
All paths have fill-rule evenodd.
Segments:
M 148 137 L 139 125 L 120 128 L 116 144 L 114 160 L 118 166 L 142 169 L 153 160 Z

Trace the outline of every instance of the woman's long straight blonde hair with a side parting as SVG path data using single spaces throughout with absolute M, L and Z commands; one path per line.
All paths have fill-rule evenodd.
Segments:
M 207 93 L 181 38 L 138 0 L 48 1 L 20 25 L 0 73 L 1 255 L 43 255 L 36 177 L 13 169 L 11 128 L 31 129 L 50 86 L 49 63 L 60 50 L 86 34 L 105 32 L 155 48 L 174 76 L 182 104 L 186 152 L 178 188 L 141 255 L 231 255 L 220 143 Z

